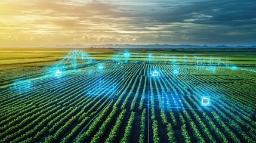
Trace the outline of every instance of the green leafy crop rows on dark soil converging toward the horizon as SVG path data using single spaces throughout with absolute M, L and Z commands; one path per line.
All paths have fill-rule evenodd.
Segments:
M 30 73 L 1 69 L 20 70 L 32 87 L 22 94 L 1 89 L 0 142 L 256 142 L 254 72 L 103 64 L 102 71 L 85 66 L 60 78 L 29 66 Z M 161 76 L 150 77 L 154 69 Z M 1 86 L 11 79 L 1 77 Z M 202 96 L 211 106 L 201 106 Z

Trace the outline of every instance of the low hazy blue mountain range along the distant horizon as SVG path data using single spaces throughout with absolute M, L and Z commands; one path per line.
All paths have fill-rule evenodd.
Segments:
M 169 44 L 153 44 L 153 45 L 130 45 L 130 44 L 104 44 L 104 45 L 56 45 L 54 48 L 256 48 L 256 45 L 252 46 L 198 46 L 198 45 L 169 45 Z

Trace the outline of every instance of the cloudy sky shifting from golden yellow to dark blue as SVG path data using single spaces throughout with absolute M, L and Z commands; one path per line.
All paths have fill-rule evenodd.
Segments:
M 0 46 L 107 43 L 256 45 L 256 1 L 0 1 Z

